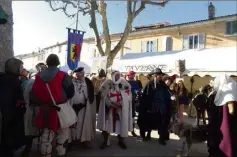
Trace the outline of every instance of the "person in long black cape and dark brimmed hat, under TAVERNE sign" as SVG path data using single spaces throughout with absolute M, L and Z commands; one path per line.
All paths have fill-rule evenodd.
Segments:
M 162 81 L 162 71 L 156 69 L 152 72 L 154 80 L 148 82 L 143 91 L 141 104 L 139 107 L 138 126 L 141 137 L 150 139 L 151 130 L 158 130 L 159 142 L 165 145 L 168 140 L 168 125 L 171 114 L 171 94 L 166 84 Z M 148 136 L 145 132 L 148 131 Z

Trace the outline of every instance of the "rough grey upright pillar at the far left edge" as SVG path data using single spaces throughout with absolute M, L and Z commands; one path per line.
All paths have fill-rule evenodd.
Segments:
M 0 72 L 3 72 L 6 60 L 14 56 L 12 0 L 0 0 L 0 5 L 9 16 L 8 22 L 0 25 Z

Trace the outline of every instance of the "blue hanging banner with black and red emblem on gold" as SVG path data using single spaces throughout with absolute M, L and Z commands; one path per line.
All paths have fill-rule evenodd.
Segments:
M 68 52 L 67 52 L 67 64 L 71 70 L 74 70 L 78 66 L 81 56 L 81 48 L 84 37 L 83 31 L 72 30 L 68 28 Z

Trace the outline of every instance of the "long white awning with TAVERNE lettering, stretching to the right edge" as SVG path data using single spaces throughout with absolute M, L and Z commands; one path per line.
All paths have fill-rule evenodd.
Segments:
M 183 75 L 211 75 L 220 73 L 237 76 L 236 47 L 221 47 L 200 50 L 127 53 L 114 61 L 113 69 L 127 72 L 148 73 L 154 68 L 161 68 L 165 73 L 173 75 L 175 62 L 185 60 L 186 71 Z

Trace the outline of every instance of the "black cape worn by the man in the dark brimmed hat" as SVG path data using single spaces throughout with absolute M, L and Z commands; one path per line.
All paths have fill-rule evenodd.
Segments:
M 158 92 L 156 92 L 158 90 Z M 157 95 L 157 93 L 159 93 Z M 152 104 L 154 103 L 155 97 L 160 97 L 163 103 L 163 110 L 159 112 L 152 111 Z M 153 112 L 153 113 L 151 113 Z M 148 82 L 145 86 L 142 98 L 139 105 L 138 115 L 138 126 L 144 131 L 150 129 L 158 129 L 161 124 L 160 121 L 166 121 L 168 123 L 171 115 L 171 93 L 167 88 L 166 84 L 161 81 L 154 86 L 154 80 Z

